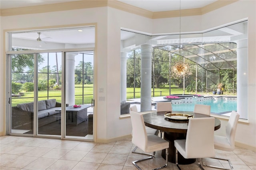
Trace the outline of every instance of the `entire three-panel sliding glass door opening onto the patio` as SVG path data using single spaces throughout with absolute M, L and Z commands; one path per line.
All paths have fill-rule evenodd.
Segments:
M 19 53 L 8 61 L 10 134 L 93 139 L 94 51 Z

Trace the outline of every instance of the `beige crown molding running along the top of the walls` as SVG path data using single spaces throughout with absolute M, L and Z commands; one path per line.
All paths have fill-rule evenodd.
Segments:
M 73 2 L 62 2 L 58 4 L 48 4 L 40 6 L 28 6 L 21 8 L 9 8 L 3 9 L 0 12 L 0 16 L 15 16 L 15 15 L 24 15 L 24 14 L 37 14 L 45 12 L 57 12 L 57 11 L 66 11 L 66 10 L 77 10 L 85 8 L 98 8 L 98 7 L 111 7 L 132 14 L 144 16 L 151 19 L 159 18 L 172 18 L 180 16 L 196 16 L 206 14 L 223 6 L 232 4 L 238 0 L 218 0 L 212 4 L 209 4 L 203 8 L 195 8 L 188 10 L 173 10 L 173 11 L 164 11 L 164 12 L 151 12 L 138 8 L 129 4 L 117 0 L 79 0 Z

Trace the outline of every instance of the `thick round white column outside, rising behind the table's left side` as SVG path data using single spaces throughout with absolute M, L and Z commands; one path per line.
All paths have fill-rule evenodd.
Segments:
M 151 65 L 152 47 L 150 44 L 141 45 L 141 94 L 140 111 L 151 110 Z

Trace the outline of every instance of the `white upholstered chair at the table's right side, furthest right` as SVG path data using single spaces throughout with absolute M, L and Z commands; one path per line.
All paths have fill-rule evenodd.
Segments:
M 226 127 L 226 136 L 217 136 L 217 135 L 214 136 L 215 149 L 225 150 L 225 151 L 233 151 L 235 149 L 236 127 L 238 124 L 239 116 L 240 115 L 236 111 L 232 111 L 230 118 L 228 119 L 228 125 Z M 230 169 L 222 168 L 218 166 L 206 165 L 206 164 L 204 164 L 204 166 L 210 166 L 213 168 L 220 168 L 225 170 L 234 170 L 229 159 L 223 159 L 223 158 L 217 158 L 217 157 L 214 157 L 214 159 L 228 161 L 230 165 Z

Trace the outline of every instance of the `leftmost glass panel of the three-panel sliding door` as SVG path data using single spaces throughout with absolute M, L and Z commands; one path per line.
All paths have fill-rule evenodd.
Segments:
M 33 134 L 34 55 L 10 55 L 11 59 L 11 133 Z

